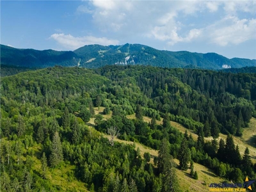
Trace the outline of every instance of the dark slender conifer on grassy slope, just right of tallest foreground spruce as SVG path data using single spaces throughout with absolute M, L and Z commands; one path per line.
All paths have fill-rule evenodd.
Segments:
M 182 139 L 179 150 L 180 169 L 188 170 L 188 163 L 190 161 L 190 152 L 186 138 Z

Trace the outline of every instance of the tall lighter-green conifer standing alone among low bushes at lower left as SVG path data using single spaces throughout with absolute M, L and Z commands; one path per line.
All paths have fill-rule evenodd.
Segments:
M 58 166 L 63 160 L 63 151 L 61 147 L 60 136 L 58 132 L 55 132 L 54 137 L 52 139 L 51 145 L 51 155 L 49 157 L 49 162 L 51 167 Z

